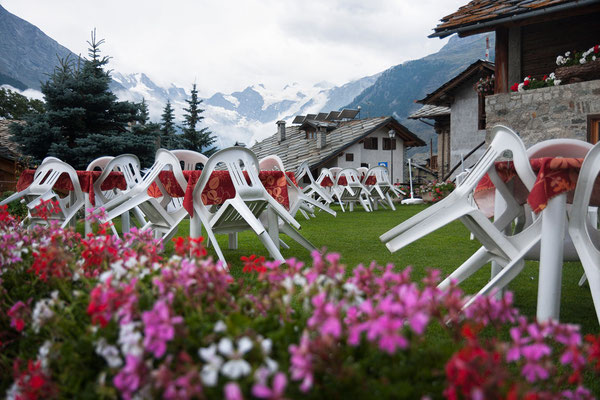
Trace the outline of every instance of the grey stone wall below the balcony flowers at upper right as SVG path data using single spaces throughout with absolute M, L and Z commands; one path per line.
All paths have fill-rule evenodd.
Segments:
M 506 125 L 525 147 L 553 138 L 587 140 L 587 117 L 600 114 L 600 80 L 487 96 L 485 113 L 488 134 Z

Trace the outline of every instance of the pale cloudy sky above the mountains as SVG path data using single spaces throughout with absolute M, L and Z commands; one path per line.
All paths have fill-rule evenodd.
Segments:
M 467 0 L 0 0 L 75 53 L 95 27 L 110 67 L 201 95 L 257 83 L 344 84 L 437 51 Z

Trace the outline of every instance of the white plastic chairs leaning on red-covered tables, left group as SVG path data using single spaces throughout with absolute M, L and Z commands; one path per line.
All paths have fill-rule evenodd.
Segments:
M 129 230 L 131 225 L 129 215 L 133 214 L 141 229 L 152 229 L 156 238 L 168 240 L 175 235 L 179 223 L 188 216 L 188 212 L 183 207 L 181 197 L 169 195 L 159 179 L 159 174 L 164 170 L 171 171 L 179 189 L 185 193 L 187 180 L 183 170 L 196 170 L 199 166 L 203 166 L 203 173 L 193 193 L 196 218 L 191 223 L 190 233 L 197 236 L 203 227 L 209 243 L 215 247 L 223 263 L 225 257 L 216 241 L 216 234 L 229 234 L 230 247 L 233 247 L 237 243 L 237 237 L 234 237 L 237 232 L 253 230 L 271 256 L 283 261 L 279 246 L 287 245 L 279 240 L 279 231 L 309 250 L 316 248 L 297 231 L 300 225 L 294 217 L 298 211 L 305 215 L 306 213 L 314 215 L 314 209 L 320 209 L 335 215 L 335 212 L 328 207 L 327 195 L 313 184 L 314 178 L 308 169 L 300 171 L 299 177 L 308 174 L 311 181 L 311 184 L 304 189 L 297 187 L 285 175 L 290 204 L 289 210 L 286 210 L 267 193 L 258 175 L 261 170 L 280 170 L 285 174 L 281 159 L 277 156 L 269 156 L 259 162 L 254 153 L 239 147 L 221 150 L 210 158 L 189 150 L 159 149 L 154 165 L 145 174 L 140 170 L 138 158 L 131 154 L 96 159 L 87 168 L 88 171 L 101 171 L 99 178 L 94 182 L 95 209 L 92 212 L 106 222 L 121 217 L 124 232 Z M 205 205 L 202 202 L 202 191 L 207 186 L 212 172 L 217 169 L 225 169 L 229 172 L 236 192 L 235 197 L 225 200 L 220 205 Z M 126 187 L 103 191 L 102 185 L 113 171 L 123 174 Z M 63 173 L 68 174 L 74 188 L 66 197 L 60 196 L 53 190 L 53 186 Z M 149 194 L 148 189 L 153 184 L 160 190 L 160 197 Z M 324 197 L 315 198 L 311 190 Z M 67 163 L 54 157 L 48 157 L 42 162 L 36 170 L 33 183 L 27 189 L 10 196 L 0 204 L 19 198 L 25 198 L 27 202 L 30 223 L 48 223 L 47 220 L 37 218 L 34 211 L 43 200 L 59 202 L 60 212 L 52 213 L 50 217 L 60 220 L 63 227 L 75 221 L 77 211 L 84 207 L 84 204 L 86 210 L 92 208 L 88 196 L 81 190 L 77 172 Z M 117 234 L 114 225 L 112 229 Z M 90 230 L 91 227 L 86 220 L 86 233 Z M 235 240 L 232 241 L 232 237 Z

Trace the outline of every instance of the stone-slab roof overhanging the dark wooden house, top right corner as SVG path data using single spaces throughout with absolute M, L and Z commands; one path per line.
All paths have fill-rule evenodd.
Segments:
M 445 16 L 429 37 L 494 30 L 503 23 L 599 3 L 598 0 L 473 0 Z

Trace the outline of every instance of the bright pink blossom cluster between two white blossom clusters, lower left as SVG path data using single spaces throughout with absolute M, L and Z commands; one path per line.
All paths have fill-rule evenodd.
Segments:
M 165 300 L 159 300 L 151 311 L 144 311 L 144 346 L 160 358 L 167 351 L 167 342 L 175 337 L 173 325 L 181 324 L 183 318 L 171 317 L 171 311 Z

